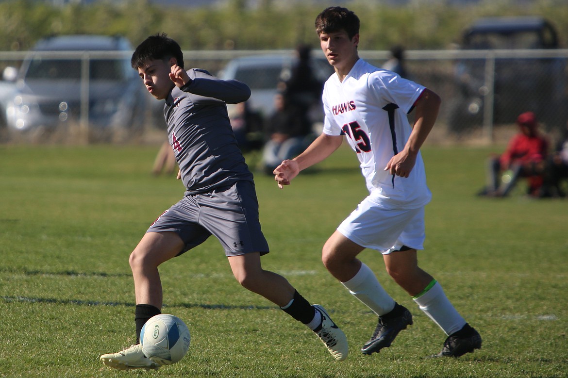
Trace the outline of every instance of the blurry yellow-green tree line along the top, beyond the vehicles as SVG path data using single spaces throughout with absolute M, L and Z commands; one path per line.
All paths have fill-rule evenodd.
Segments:
M 445 49 L 460 43 L 466 26 L 482 16 L 538 15 L 568 45 L 568 4 L 562 0 L 484 0 L 475 5 L 411 1 L 393 6 L 378 1 L 347 5 L 361 19 L 361 49 Z M 218 7 L 158 7 L 148 0 L 100 1 L 56 6 L 33 0 L 0 2 L 0 51 L 26 51 L 37 40 L 61 34 L 124 35 L 133 45 L 148 35 L 166 32 L 184 50 L 291 49 L 300 43 L 318 47 L 316 15 L 310 2 L 263 0 L 254 8 L 244 0 Z

